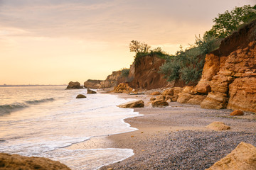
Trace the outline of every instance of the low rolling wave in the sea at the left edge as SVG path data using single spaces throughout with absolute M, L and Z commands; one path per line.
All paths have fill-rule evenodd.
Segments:
M 48 101 L 54 101 L 54 98 L 43 98 L 41 100 L 25 101 L 24 103 L 12 103 L 12 104 L 0 105 L 0 115 L 8 114 L 13 111 L 18 111 L 23 108 L 28 108 L 29 105 L 44 103 Z

